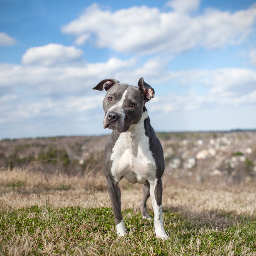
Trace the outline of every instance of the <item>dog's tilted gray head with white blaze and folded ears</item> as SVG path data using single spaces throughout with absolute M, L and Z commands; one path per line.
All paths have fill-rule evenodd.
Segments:
M 106 90 L 103 100 L 104 128 L 126 132 L 132 124 L 137 124 L 142 116 L 145 103 L 154 97 L 154 89 L 139 79 L 138 86 L 119 83 L 116 79 L 104 79 L 94 90 Z

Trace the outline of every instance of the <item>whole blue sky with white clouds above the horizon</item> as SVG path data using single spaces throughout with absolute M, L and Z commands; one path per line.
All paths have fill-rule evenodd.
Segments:
M 255 0 L 0 0 L 0 139 L 102 135 L 103 79 L 158 132 L 256 128 Z

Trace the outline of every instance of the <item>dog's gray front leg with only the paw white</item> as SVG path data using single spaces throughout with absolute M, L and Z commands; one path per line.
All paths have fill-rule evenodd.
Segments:
M 116 182 L 113 177 L 107 178 L 107 190 L 115 216 L 116 233 L 118 236 L 124 236 L 127 230 L 124 226 L 124 219 L 121 214 L 121 191 L 118 182 Z

